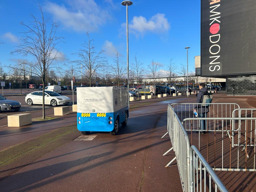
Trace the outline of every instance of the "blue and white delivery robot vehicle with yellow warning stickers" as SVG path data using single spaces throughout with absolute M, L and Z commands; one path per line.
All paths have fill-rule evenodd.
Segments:
M 77 129 L 116 135 L 129 118 L 126 87 L 77 87 Z

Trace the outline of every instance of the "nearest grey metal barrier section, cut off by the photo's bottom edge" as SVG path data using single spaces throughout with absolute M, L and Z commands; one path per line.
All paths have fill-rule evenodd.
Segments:
M 216 175 L 214 170 L 212 170 L 211 166 L 207 163 L 196 146 L 192 145 L 190 147 L 189 154 L 191 192 L 206 191 L 206 188 L 209 189 L 209 192 L 212 191 L 212 188 L 214 188 L 215 191 L 219 189 L 219 191 L 228 192 L 227 188 L 223 185 L 219 177 Z M 212 186 L 212 182 L 214 182 L 214 186 Z

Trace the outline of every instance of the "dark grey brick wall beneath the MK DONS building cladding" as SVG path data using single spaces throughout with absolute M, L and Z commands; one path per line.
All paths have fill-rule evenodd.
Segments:
M 241 75 L 227 77 L 227 95 L 256 95 L 256 75 Z

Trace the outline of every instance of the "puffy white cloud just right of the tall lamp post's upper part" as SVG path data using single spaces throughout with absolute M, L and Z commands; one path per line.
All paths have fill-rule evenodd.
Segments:
M 122 26 L 126 25 L 122 24 Z M 170 24 L 168 19 L 165 18 L 165 14 L 161 13 L 153 15 L 149 20 L 143 16 L 134 16 L 129 24 L 129 31 L 135 34 L 140 33 L 142 35 L 148 31 L 153 33 L 163 33 L 168 31 L 169 28 Z

